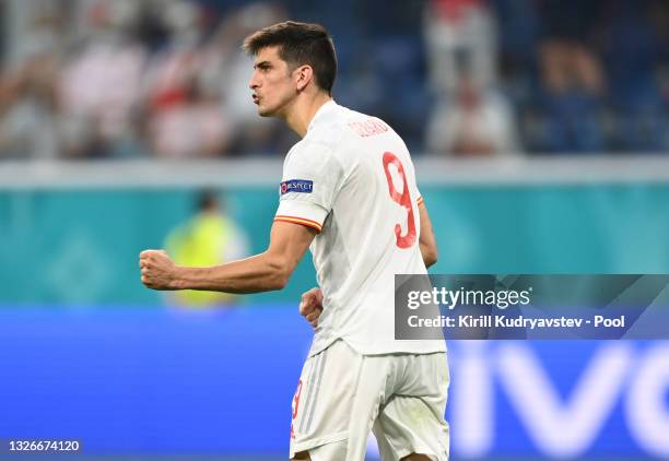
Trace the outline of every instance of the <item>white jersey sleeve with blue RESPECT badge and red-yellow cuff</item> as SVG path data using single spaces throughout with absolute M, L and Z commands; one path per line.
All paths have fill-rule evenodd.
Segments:
M 320 233 L 342 176 L 330 147 L 318 143 L 298 144 L 283 166 L 274 221 L 302 224 Z

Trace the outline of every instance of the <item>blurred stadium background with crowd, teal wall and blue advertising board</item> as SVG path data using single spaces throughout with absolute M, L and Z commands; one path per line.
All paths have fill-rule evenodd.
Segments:
M 137 270 L 203 188 L 265 249 L 295 139 L 254 115 L 237 46 L 284 17 L 327 25 L 337 101 L 408 141 L 432 272 L 669 272 L 666 2 L 10 0 L 0 14 L 0 437 L 80 438 L 90 458 L 285 457 L 308 258 L 285 291 L 221 309 L 167 307 Z M 669 458 L 667 343 L 449 351 L 454 459 Z

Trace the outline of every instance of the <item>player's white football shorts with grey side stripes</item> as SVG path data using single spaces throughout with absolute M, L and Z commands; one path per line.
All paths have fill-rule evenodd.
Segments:
M 433 354 L 361 355 L 344 341 L 309 357 L 293 398 L 291 458 L 364 460 L 369 430 L 382 459 L 448 459 L 448 364 Z

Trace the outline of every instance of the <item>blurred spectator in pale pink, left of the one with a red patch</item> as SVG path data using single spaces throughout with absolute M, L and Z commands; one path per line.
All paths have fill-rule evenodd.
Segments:
M 138 155 L 137 106 L 148 58 L 136 36 L 140 3 L 97 0 L 82 8 L 86 35 L 67 62 L 59 88 L 66 155 Z

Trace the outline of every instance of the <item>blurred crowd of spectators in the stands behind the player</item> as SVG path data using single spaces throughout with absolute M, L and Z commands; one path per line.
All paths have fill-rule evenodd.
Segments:
M 280 154 L 295 135 L 258 118 L 239 46 L 287 17 L 326 23 L 340 51 L 334 97 L 379 114 L 415 153 L 425 140 L 460 154 L 669 147 L 666 0 L 2 4 L 0 157 Z M 503 114 L 521 120 L 518 149 L 493 134 L 514 123 Z M 439 130 L 446 118 L 469 128 Z

